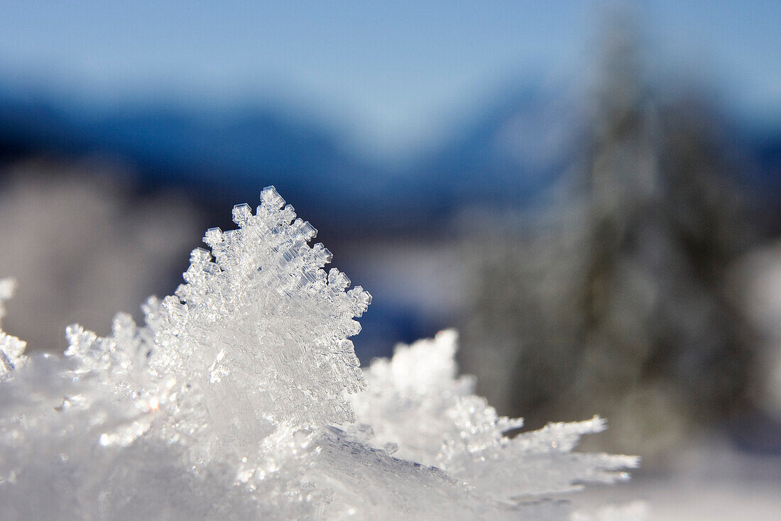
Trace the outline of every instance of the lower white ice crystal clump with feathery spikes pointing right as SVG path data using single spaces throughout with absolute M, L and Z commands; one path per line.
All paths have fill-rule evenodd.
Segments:
M 373 430 L 373 444 L 390 444 L 398 457 L 444 469 L 495 501 L 569 491 L 587 481 L 610 483 L 626 478 L 613 470 L 637 464 L 627 456 L 572 452 L 583 434 L 604 430 L 597 417 L 505 436 L 523 421 L 497 416 L 474 394 L 474 378 L 457 376 L 457 337 L 442 331 L 369 366 L 369 391 L 353 403 L 358 421 Z

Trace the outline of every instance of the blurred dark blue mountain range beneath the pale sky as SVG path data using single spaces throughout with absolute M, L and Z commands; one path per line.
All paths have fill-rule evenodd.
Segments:
M 316 118 L 271 105 L 216 113 L 171 101 L 90 105 L 52 92 L 0 80 L 0 159 L 96 155 L 125 166 L 142 190 L 184 189 L 207 212 L 275 184 L 313 222 L 348 233 L 436 228 L 470 205 L 517 208 L 582 152 L 583 102 L 541 87 L 498 91 L 405 166 L 364 159 Z M 740 175 L 775 200 L 781 128 L 729 125 L 747 166 Z

